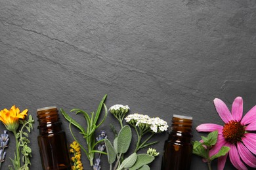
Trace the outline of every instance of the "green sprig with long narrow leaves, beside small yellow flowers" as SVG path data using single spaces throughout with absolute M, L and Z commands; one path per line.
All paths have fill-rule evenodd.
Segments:
M 70 110 L 70 112 L 75 112 L 75 114 L 79 114 L 79 113 L 83 114 L 83 116 L 86 120 L 86 123 L 87 123 L 86 128 L 84 128 L 78 122 L 76 122 L 73 118 L 71 118 L 63 109 L 60 109 L 60 112 L 63 114 L 63 116 L 66 118 L 66 120 L 68 120 L 70 122 L 70 132 L 71 132 L 72 136 L 74 137 L 74 140 L 81 147 L 81 150 L 83 150 L 83 152 L 85 152 L 88 160 L 90 161 L 91 166 L 93 166 L 93 159 L 94 159 L 96 152 L 100 153 L 100 154 L 106 154 L 106 152 L 102 152 L 100 150 L 95 149 L 95 146 L 98 143 L 101 143 L 102 141 L 104 141 L 104 139 L 97 141 L 97 142 L 95 141 L 95 130 L 104 122 L 104 120 L 106 119 L 106 116 L 108 114 L 108 109 L 106 108 L 106 105 L 104 104 L 106 97 L 107 97 L 107 95 L 104 95 L 104 97 L 100 101 L 100 104 L 98 105 L 98 109 L 96 110 L 96 112 L 91 112 L 91 116 L 90 116 L 90 114 L 88 114 L 87 112 L 85 112 L 84 110 L 81 110 L 81 109 Z M 104 107 L 105 114 L 104 114 L 104 118 L 98 123 L 98 118 L 100 117 L 100 112 L 102 110 L 102 107 Z M 83 147 L 83 145 L 81 143 L 79 143 L 79 141 L 77 141 L 77 139 L 75 138 L 75 136 L 72 132 L 71 124 L 73 124 L 75 127 L 77 127 L 80 130 L 80 133 L 83 135 L 83 138 L 85 138 L 85 141 L 87 144 L 87 149 L 85 149 L 85 147 Z

